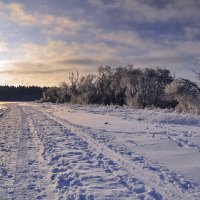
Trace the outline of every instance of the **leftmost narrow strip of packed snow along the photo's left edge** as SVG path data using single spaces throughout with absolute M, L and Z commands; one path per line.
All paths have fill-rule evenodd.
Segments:
M 12 198 L 19 130 L 19 110 L 9 105 L 0 117 L 0 199 L 2 200 Z

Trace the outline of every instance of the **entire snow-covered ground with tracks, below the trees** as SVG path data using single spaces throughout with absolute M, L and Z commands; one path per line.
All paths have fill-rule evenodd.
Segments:
M 0 199 L 200 199 L 200 116 L 0 104 Z

